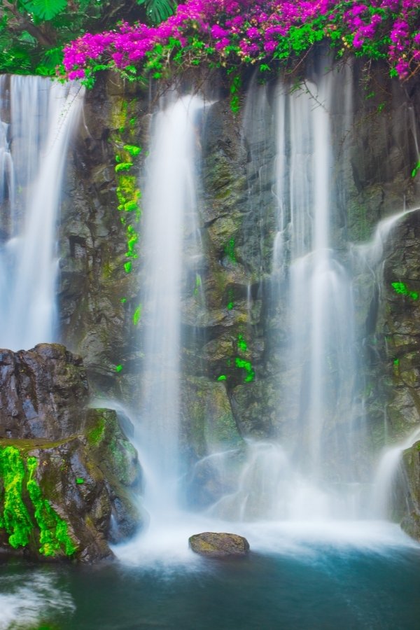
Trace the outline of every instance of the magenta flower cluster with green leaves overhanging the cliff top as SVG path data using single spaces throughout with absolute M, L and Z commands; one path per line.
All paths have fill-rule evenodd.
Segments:
M 420 0 L 188 0 L 156 27 L 124 23 L 85 34 L 64 49 L 64 69 L 74 79 L 104 66 L 141 68 L 162 47 L 223 65 L 269 63 L 321 38 L 341 53 L 387 57 L 405 79 L 420 68 Z

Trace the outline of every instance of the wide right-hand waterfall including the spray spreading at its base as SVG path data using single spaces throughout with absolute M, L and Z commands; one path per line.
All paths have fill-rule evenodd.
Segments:
M 344 112 L 341 131 L 349 132 L 351 83 L 344 69 L 316 76 L 299 90 L 283 83 L 276 90 L 278 218 L 270 300 L 281 323 L 269 344 L 279 370 L 279 429 L 272 442 L 247 440 L 236 488 L 211 507 L 212 514 L 349 519 L 362 511 L 358 449 L 365 434 L 352 276 L 348 246 L 337 230 L 346 142 L 339 159 L 332 142 L 335 112 Z M 260 109 L 270 115 L 265 87 L 253 89 L 259 93 L 251 90 L 248 97 L 247 138 L 254 133 L 247 123 L 264 119 Z M 220 467 L 223 457 L 218 462 Z

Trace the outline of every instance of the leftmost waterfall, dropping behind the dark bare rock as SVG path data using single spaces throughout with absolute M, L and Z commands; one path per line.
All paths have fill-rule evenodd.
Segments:
M 56 224 L 66 153 L 83 102 L 75 84 L 0 78 L 0 346 L 57 339 Z

